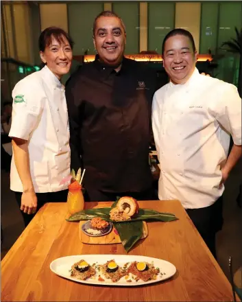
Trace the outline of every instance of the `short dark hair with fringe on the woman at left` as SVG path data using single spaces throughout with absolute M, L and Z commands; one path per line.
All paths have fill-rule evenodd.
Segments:
M 41 32 L 40 37 L 38 38 L 38 49 L 40 51 L 45 51 L 45 47 L 51 44 L 52 37 L 56 38 L 59 43 L 63 43 L 63 36 L 68 40 L 71 49 L 73 49 L 74 43 L 69 34 L 62 30 L 62 28 L 54 26 L 47 27 L 43 32 Z

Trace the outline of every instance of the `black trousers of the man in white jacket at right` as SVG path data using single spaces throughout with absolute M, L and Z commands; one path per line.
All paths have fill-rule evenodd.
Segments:
M 186 209 L 186 213 L 216 259 L 215 235 L 223 227 L 223 197 L 209 207 Z

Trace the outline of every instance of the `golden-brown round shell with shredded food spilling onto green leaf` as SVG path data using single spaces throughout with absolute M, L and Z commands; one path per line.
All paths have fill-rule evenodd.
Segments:
M 130 220 L 138 213 L 138 202 L 128 196 L 119 198 L 116 207 L 110 211 L 110 219 L 113 221 Z

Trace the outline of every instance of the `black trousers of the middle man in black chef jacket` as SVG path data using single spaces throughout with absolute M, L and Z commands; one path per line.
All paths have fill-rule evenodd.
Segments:
M 86 188 L 84 193 L 85 201 L 115 201 L 117 196 L 130 196 L 137 200 L 154 200 L 156 199 L 154 189 L 151 187 L 141 192 L 114 192 L 109 193 L 99 189 Z

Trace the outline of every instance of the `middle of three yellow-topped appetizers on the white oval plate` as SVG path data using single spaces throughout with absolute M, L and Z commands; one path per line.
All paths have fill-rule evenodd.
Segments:
M 121 266 L 118 266 L 114 259 L 106 262 L 106 264 L 100 265 L 99 267 L 104 277 L 111 279 L 112 282 L 119 281 L 127 274 L 126 270 Z

